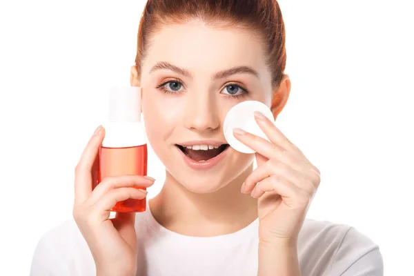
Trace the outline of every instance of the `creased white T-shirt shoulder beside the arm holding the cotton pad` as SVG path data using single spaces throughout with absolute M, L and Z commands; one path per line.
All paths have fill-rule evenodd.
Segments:
M 320 275 L 383 275 L 380 247 L 347 224 L 305 219 L 298 253 L 304 271 L 317 269 Z M 361 268 L 366 273 L 355 274 Z

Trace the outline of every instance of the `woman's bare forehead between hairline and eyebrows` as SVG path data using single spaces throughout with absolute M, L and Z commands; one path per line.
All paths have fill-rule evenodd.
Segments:
M 163 26 L 152 34 L 143 72 L 157 61 L 168 61 L 188 70 L 217 71 L 233 66 L 266 70 L 264 47 L 254 30 L 215 28 L 202 21 Z

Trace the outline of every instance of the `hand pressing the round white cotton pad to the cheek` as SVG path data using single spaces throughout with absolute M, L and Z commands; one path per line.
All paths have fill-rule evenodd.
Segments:
M 295 243 L 320 183 L 320 172 L 272 121 L 259 112 L 257 124 L 268 139 L 235 129 L 239 141 L 256 151 L 257 168 L 242 193 L 258 198 L 259 241 Z

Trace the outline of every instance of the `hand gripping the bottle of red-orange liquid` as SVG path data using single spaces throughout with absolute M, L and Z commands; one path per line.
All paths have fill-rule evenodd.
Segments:
M 98 152 L 104 136 L 102 127 L 95 130 L 76 166 L 73 217 L 90 248 L 97 275 L 135 275 L 135 213 L 117 213 L 109 219 L 110 209 L 117 201 L 144 199 L 146 191 L 136 187 L 149 187 L 154 179 L 135 175 L 107 177 L 92 190 L 92 183 L 97 181 Z

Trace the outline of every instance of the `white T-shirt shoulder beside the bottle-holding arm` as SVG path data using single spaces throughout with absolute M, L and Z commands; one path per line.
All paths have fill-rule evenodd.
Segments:
M 77 275 L 95 273 L 88 244 L 73 219 L 51 228 L 37 243 L 30 276 Z

